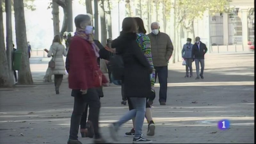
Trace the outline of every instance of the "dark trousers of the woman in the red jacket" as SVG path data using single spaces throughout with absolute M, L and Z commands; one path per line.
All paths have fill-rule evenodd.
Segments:
M 74 92 L 76 91 L 76 92 Z M 81 122 L 82 114 L 85 110 L 86 104 L 89 105 L 89 117 L 94 129 L 94 138 L 100 138 L 99 133 L 99 114 L 100 114 L 100 99 L 99 94 L 95 88 L 88 89 L 87 93 L 82 95 L 80 90 L 72 90 L 76 93 L 74 101 L 74 110 L 71 116 L 69 139 L 77 140 L 79 125 Z

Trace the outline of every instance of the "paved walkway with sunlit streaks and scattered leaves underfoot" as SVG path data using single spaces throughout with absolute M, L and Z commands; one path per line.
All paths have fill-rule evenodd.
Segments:
M 73 108 L 67 76 L 60 95 L 55 95 L 54 84 L 43 83 L 49 60 L 30 60 L 35 84 L 0 89 L 0 143 L 64 144 Z M 156 135 L 146 136 L 145 121 L 145 137 L 154 143 L 254 143 L 254 53 L 207 54 L 205 78 L 197 81 L 195 71 L 193 78 L 184 78 L 181 63 L 169 64 L 166 106 L 158 103 L 156 84 L 152 108 Z M 101 103 L 100 129 L 103 137 L 113 142 L 109 123 L 128 110 L 121 105 L 120 86 L 105 87 Z M 221 119 L 230 120 L 230 129 L 217 128 Z M 118 143 L 132 142 L 132 138 L 124 137 L 131 128 L 131 121 L 121 127 Z M 92 143 L 92 139 L 78 136 L 84 144 Z

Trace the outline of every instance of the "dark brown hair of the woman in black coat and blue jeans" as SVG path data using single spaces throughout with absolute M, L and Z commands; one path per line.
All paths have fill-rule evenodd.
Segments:
M 137 22 L 132 17 L 126 17 L 122 23 L 122 33 L 137 33 Z

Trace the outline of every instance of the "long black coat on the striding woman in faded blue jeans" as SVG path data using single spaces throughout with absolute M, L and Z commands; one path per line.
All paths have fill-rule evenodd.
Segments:
M 152 68 L 136 42 L 135 33 L 122 34 L 111 47 L 124 60 L 124 97 L 149 97 Z

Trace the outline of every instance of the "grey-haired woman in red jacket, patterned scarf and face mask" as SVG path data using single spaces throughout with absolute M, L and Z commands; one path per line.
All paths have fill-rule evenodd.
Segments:
M 97 63 L 99 48 L 92 39 L 92 18 L 90 15 L 79 14 L 75 18 L 76 32 L 72 38 L 68 52 L 68 84 L 75 97 L 74 110 L 71 116 L 68 144 L 82 144 L 77 133 L 86 103 L 89 104 L 89 120 L 94 129 L 94 142 L 104 140 L 99 132 L 100 99 L 97 87 L 108 83 Z

